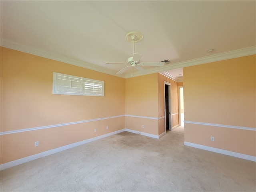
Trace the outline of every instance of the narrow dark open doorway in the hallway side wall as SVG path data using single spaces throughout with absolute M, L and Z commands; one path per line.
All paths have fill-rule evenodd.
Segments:
M 172 130 L 171 109 L 171 84 L 164 82 L 165 132 L 166 130 Z

